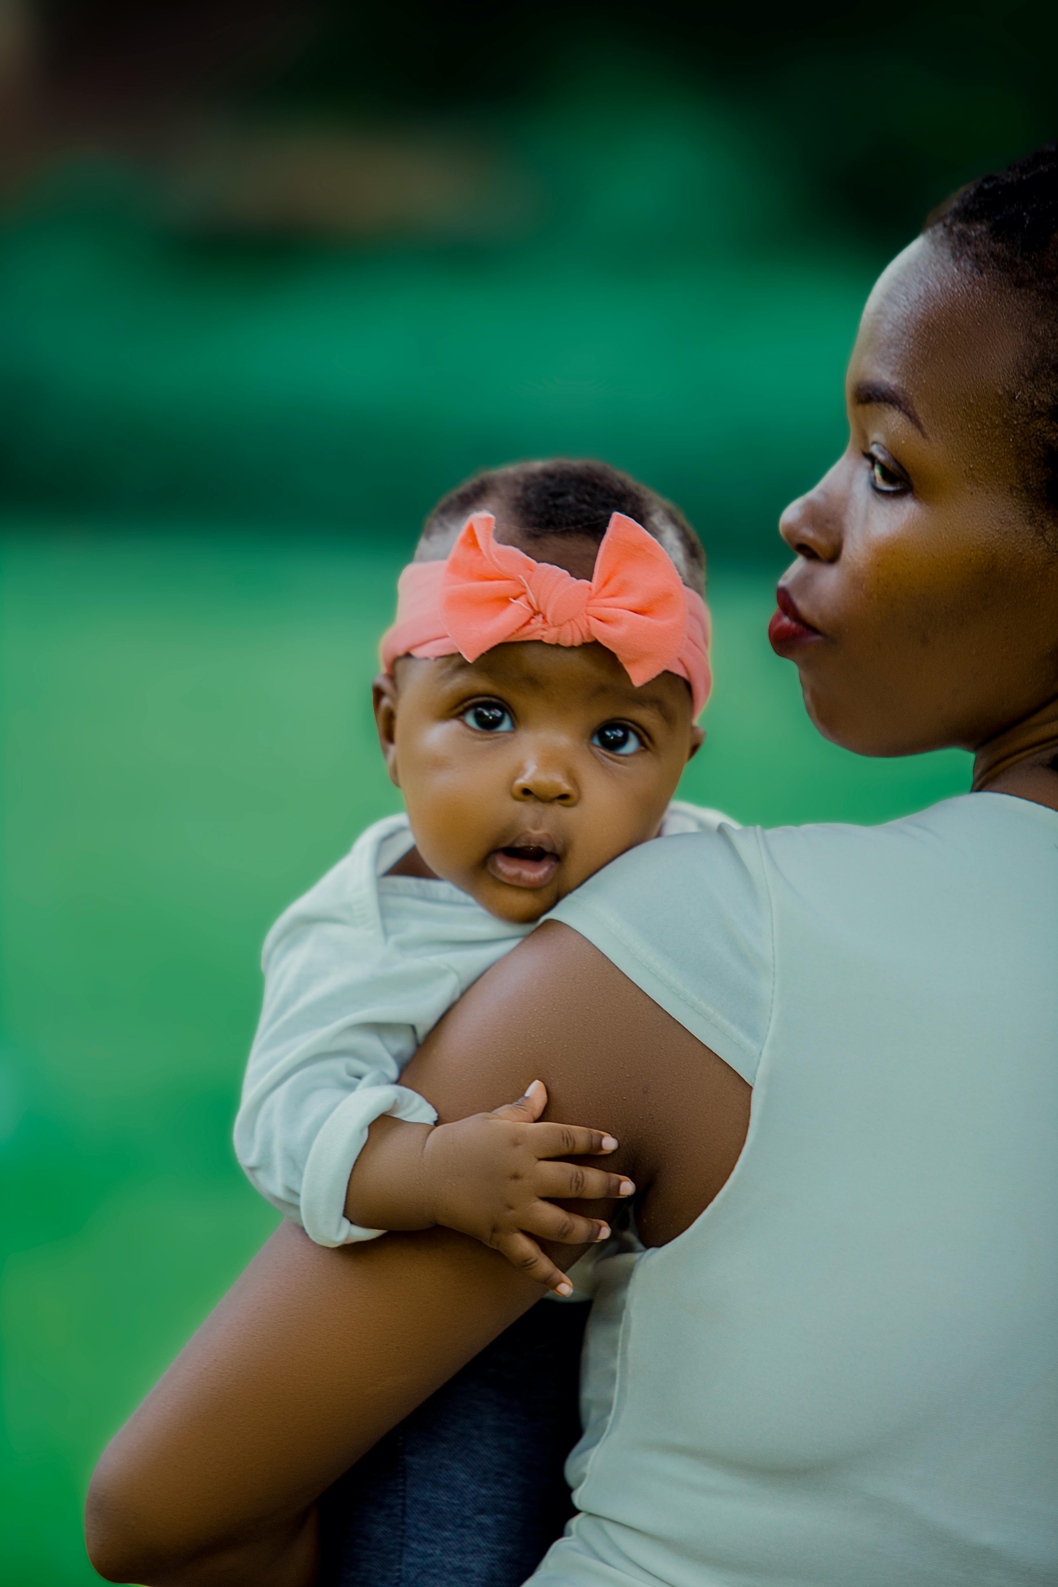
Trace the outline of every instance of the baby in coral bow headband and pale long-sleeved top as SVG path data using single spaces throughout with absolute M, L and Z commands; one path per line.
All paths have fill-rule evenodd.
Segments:
M 536 1239 L 608 1238 L 547 1198 L 574 1176 L 579 1197 L 634 1187 L 555 1162 L 571 1135 L 530 1122 L 539 1082 L 436 1125 L 398 1078 L 568 892 L 634 844 L 726 819 L 671 803 L 703 740 L 703 589 L 684 517 L 600 463 L 479 475 L 430 514 L 374 682 L 406 814 L 370 827 L 271 930 L 235 1127 L 252 1182 L 319 1244 L 444 1224 L 569 1295 Z M 576 1132 L 579 1154 L 615 1144 Z

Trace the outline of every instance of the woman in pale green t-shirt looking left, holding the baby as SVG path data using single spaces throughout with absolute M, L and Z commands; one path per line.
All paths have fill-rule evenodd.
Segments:
M 782 519 L 815 725 L 974 749 L 976 792 L 679 838 L 650 892 L 633 851 L 408 1071 L 443 1119 L 539 1073 L 642 1192 L 541 1587 L 1058 1579 L 1056 251 L 1053 148 L 930 224 Z M 536 1293 L 458 1236 L 284 1227 L 103 1457 L 97 1568 L 309 1584 L 317 1495 Z

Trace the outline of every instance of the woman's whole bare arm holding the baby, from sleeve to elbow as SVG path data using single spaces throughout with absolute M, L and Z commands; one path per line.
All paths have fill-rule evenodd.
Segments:
M 655 1243 L 715 1195 L 749 1119 L 746 1082 L 562 925 L 471 987 L 404 1073 L 441 1119 L 544 1079 L 550 1117 L 617 1135 Z M 94 1563 L 159 1587 L 308 1587 L 319 1493 L 539 1295 L 444 1230 L 324 1251 L 284 1225 L 103 1455 Z

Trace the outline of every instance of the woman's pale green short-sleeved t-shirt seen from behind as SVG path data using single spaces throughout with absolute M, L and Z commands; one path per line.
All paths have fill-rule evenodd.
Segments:
M 1053 1587 L 1058 814 L 720 828 L 555 916 L 755 1090 L 601 1284 L 533 1587 Z

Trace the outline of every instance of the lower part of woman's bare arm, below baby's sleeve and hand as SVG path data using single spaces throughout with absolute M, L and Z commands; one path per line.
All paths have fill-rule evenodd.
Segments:
M 446 1230 L 327 1251 L 282 1224 L 105 1452 L 109 1581 L 301 1587 L 309 1508 L 539 1285 Z

